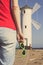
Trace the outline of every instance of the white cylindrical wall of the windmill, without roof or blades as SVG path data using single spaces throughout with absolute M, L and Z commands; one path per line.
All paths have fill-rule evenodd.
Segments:
M 25 13 L 24 13 L 25 10 Z M 22 30 L 24 37 L 27 39 L 27 45 L 32 44 L 32 10 L 30 8 L 26 8 L 22 10 Z M 27 28 L 25 28 L 27 26 Z M 24 41 L 24 45 L 26 45 L 26 41 Z

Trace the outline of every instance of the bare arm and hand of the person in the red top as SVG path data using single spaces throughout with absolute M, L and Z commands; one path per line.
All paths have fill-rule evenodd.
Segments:
M 12 15 L 17 28 L 17 40 L 23 42 L 24 36 L 21 32 L 21 17 L 20 17 L 20 8 L 18 0 L 12 0 Z

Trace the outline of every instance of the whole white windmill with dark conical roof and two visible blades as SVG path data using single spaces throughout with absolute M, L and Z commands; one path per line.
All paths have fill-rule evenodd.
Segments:
M 27 4 L 24 7 L 20 8 L 21 27 L 25 37 L 24 45 L 27 47 L 32 47 L 32 24 L 37 30 L 40 28 L 40 24 L 32 19 L 32 14 L 34 14 L 39 8 L 40 5 L 38 3 L 36 3 L 33 8 L 29 7 Z

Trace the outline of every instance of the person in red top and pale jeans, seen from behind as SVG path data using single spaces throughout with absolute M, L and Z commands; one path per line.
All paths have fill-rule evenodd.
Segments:
M 23 41 L 18 0 L 0 0 L 0 65 L 14 63 L 16 31 L 18 41 Z

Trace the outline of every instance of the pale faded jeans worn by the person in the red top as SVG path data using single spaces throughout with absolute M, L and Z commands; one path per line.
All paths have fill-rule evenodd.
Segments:
M 15 60 L 16 31 L 0 28 L 0 65 L 13 65 Z

